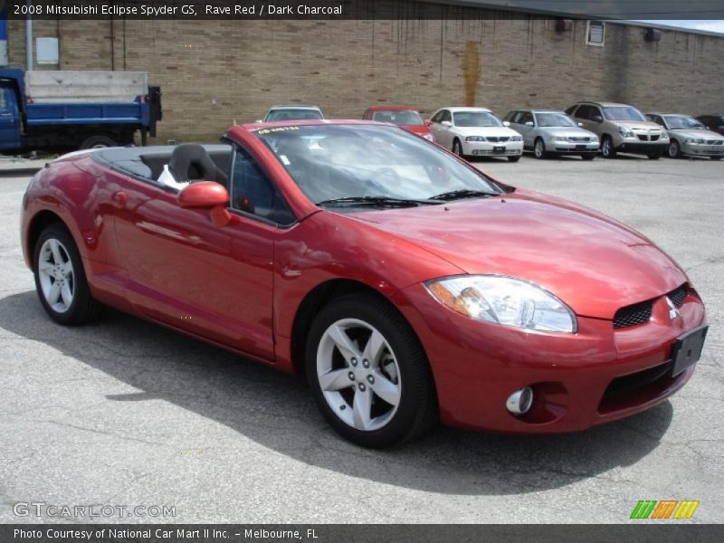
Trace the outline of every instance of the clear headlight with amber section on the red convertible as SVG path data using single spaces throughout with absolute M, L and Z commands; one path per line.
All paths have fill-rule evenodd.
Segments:
M 540 287 L 499 275 L 461 275 L 428 281 L 427 290 L 472 319 L 545 332 L 576 332 L 576 316 Z

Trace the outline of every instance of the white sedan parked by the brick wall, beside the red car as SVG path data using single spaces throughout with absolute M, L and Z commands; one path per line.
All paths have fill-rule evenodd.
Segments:
M 435 140 L 460 157 L 508 157 L 518 162 L 523 138 L 485 108 L 443 108 L 434 112 L 430 130 Z

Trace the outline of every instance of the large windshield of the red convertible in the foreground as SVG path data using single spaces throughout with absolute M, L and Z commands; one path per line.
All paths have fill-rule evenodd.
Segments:
M 315 204 L 359 209 L 389 204 L 384 199 L 422 205 L 439 203 L 438 195 L 456 199 L 458 191 L 459 197 L 502 193 L 481 172 L 402 129 L 314 125 L 255 133 Z

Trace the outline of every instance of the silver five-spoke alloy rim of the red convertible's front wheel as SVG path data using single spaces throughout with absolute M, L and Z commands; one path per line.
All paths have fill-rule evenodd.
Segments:
M 360 319 L 339 319 L 317 349 L 317 378 L 331 411 L 356 430 L 384 428 L 402 394 L 400 367 L 386 338 Z

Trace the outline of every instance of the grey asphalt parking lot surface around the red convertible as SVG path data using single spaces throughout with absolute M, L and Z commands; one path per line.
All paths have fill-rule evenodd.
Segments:
M 610 214 L 681 263 L 710 322 L 688 386 L 582 433 L 439 427 L 360 449 L 291 376 L 115 311 L 54 324 L 20 251 L 28 178 L 0 177 L 0 522 L 89 520 L 19 518 L 19 501 L 175 507 L 90 519 L 123 522 L 624 522 L 638 500 L 700 500 L 691 521 L 724 521 L 724 164 L 475 164 Z

